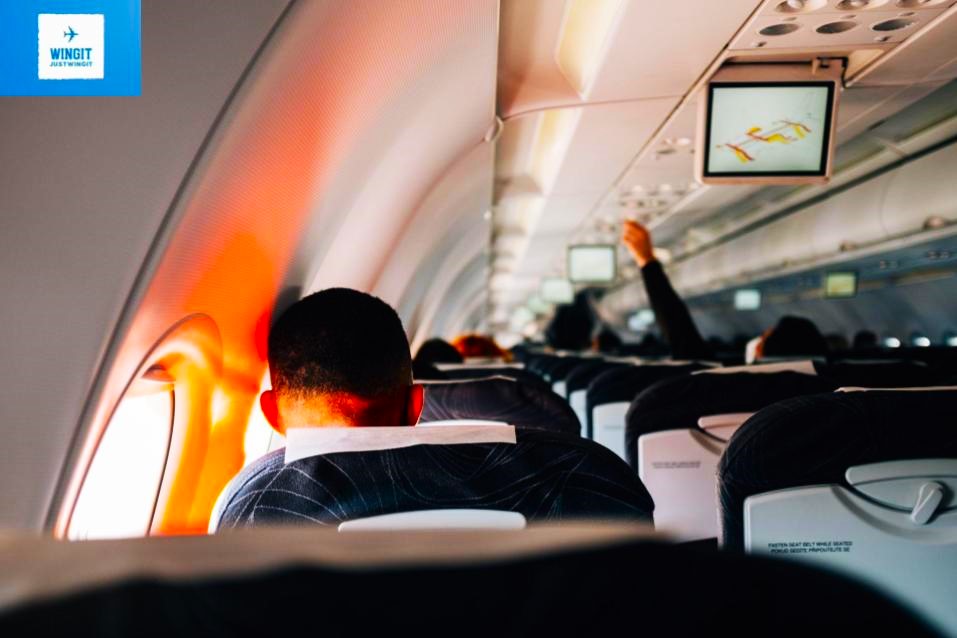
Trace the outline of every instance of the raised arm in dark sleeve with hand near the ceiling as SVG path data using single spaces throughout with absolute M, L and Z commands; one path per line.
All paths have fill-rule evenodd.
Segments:
M 671 287 L 664 268 L 655 258 L 648 229 L 636 221 L 626 220 L 622 227 L 621 241 L 641 268 L 648 303 L 655 313 L 655 322 L 662 337 L 671 347 L 671 356 L 675 359 L 711 358 L 711 348 L 701 338 L 688 307 Z

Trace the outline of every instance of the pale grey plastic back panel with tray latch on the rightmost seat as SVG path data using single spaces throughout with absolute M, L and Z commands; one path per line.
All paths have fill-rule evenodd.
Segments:
M 744 547 L 861 578 L 957 635 L 957 459 L 854 466 L 845 484 L 750 496 Z

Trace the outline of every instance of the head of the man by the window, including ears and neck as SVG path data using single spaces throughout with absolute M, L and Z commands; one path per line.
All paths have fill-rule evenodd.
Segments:
M 269 332 L 266 418 L 289 427 L 415 423 L 421 391 L 402 322 L 377 297 L 330 288 L 297 301 Z

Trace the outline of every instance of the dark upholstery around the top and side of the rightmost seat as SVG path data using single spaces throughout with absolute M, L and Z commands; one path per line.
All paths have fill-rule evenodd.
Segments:
M 722 543 L 743 549 L 751 495 L 846 485 L 854 465 L 957 457 L 955 414 L 955 391 L 818 394 L 761 410 L 731 437 L 718 465 Z

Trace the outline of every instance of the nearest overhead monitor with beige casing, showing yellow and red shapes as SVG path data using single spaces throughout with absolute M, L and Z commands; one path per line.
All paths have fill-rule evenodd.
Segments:
M 830 69 L 812 75 L 810 65 L 806 70 L 740 66 L 745 68 L 719 72 L 707 86 L 699 179 L 712 184 L 826 182 L 840 76 L 833 77 Z

